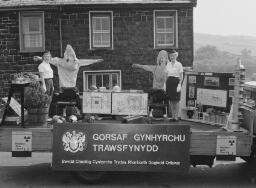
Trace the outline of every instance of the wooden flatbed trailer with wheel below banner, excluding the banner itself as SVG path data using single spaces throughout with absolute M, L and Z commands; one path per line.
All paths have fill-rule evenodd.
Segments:
M 173 126 L 189 126 L 190 127 L 190 140 L 189 140 L 189 166 L 196 165 L 208 165 L 212 167 L 214 159 L 217 154 L 217 140 L 219 136 L 224 136 L 226 138 L 232 137 L 236 138 L 236 153 L 231 156 L 232 160 L 235 157 L 241 157 L 247 162 L 254 162 L 256 159 L 255 154 L 255 133 L 253 133 L 253 123 L 255 118 L 255 111 L 249 108 L 244 107 L 243 110 L 244 123 L 242 124 L 239 131 L 228 131 L 224 127 L 210 125 L 206 123 L 193 122 L 181 120 L 179 122 L 164 122 L 162 120 L 152 121 L 152 124 L 130 124 L 135 127 L 152 126 L 154 124 L 164 124 L 170 127 Z M 84 123 L 84 126 L 111 126 L 114 127 L 115 124 L 118 125 L 115 120 L 101 120 L 95 121 L 94 123 Z M 127 126 L 128 124 L 124 124 Z M 31 132 L 32 133 L 32 152 L 53 152 L 54 145 L 54 136 L 53 136 L 53 127 L 55 125 L 48 125 L 47 127 L 18 127 L 18 126 L 1 126 L 0 127 L 0 151 L 3 152 L 12 152 L 12 133 L 13 132 Z M 76 127 L 76 125 L 72 125 Z M 171 151 L 170 152 L 175 152 Z M 54 155 L 54 152 L 53 152 Z M 115 155 L 115 154 L 113 154 Z M 223 156 L 222 156 L 223 157 Z M 230 155 L 225 156 L 224 158 L 230 159 Z M 114 168 L 115 169 L 115 168 Z M 69 171 L 66 169 L 65 171 Z M 70 170 L 79 179 L 82 179 L 86 182 L 95 182 L 101 178 L 104 173 L 108 170 L 96 170 L 93 168 L 89 171 Z M 111 170 L 113 171 L 113 170 Z M 126 169 L 121 169 L 121 171 L 126 171 Z M 130 170 L 128 170 L 130 171 Z M 133 170 L 134 171 L 134 170 Z M 135 169 L 136 171 L 136 169 Z M 147 170 L 142 170 L 147 171 Z M 161 171 L 161 169 L 157 170 Z M 166 172 L 166 170 L 163 170 Z M 167 170 L 168 171 L 168 170 Z

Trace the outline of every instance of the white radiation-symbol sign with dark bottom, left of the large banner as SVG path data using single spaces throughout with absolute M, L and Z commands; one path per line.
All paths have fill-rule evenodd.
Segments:
M 12 132 L 12 157 L 31 157 L 32 132 Z

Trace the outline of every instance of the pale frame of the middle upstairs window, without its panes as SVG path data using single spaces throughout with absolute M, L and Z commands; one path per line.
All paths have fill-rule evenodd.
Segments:
M 93 26 L 92 18 L 94 15 L 110 17 L 110 46 L 94 46 L 93 45 Z M 93 49 L 114 49 L 113 40 L 113 11 L 89 11 L 89 43 L 90 50 Z

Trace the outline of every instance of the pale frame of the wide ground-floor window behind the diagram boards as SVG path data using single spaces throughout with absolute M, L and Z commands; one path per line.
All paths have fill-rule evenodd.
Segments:
M 89 75 L 93 75 L 95 78 L 94 82 L 95 84 L 97 83 L 96 81 L 96 76 L 97 75 L 109 75 L 110 78 L 112 78 L 112 75 L 113 74 L 116 74 L 117 75 L 117 83 L 119 83 L 119 87 L 120 89 L 122 89 L 122 75 L 121 75 L 121 70 L 96 70 L 96 71 L 83 71 L 83 91 L 88 91 L 89 88 L 89 83 L 88 83 L 88 76 Z M 111 76 L 110 76 L 111 75 Z M 92 79 L 93 80 L 93 79 Z M 110 80 L 109 80 L 110 82 Z M 112 80 L 111 80 L 112 82 Z M 103 83 L 103 80 L 102 80 L 102 83 Z M 107 90 L 112 90 L 114 85 L 113 83 L 110 84 L 110 86 L 112 86 L 112 88 L 109 88 Z

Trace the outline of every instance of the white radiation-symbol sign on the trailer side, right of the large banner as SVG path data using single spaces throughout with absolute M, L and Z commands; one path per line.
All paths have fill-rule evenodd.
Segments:
M 236 136 L 217 136 L 217 155 L 236 155 Z

